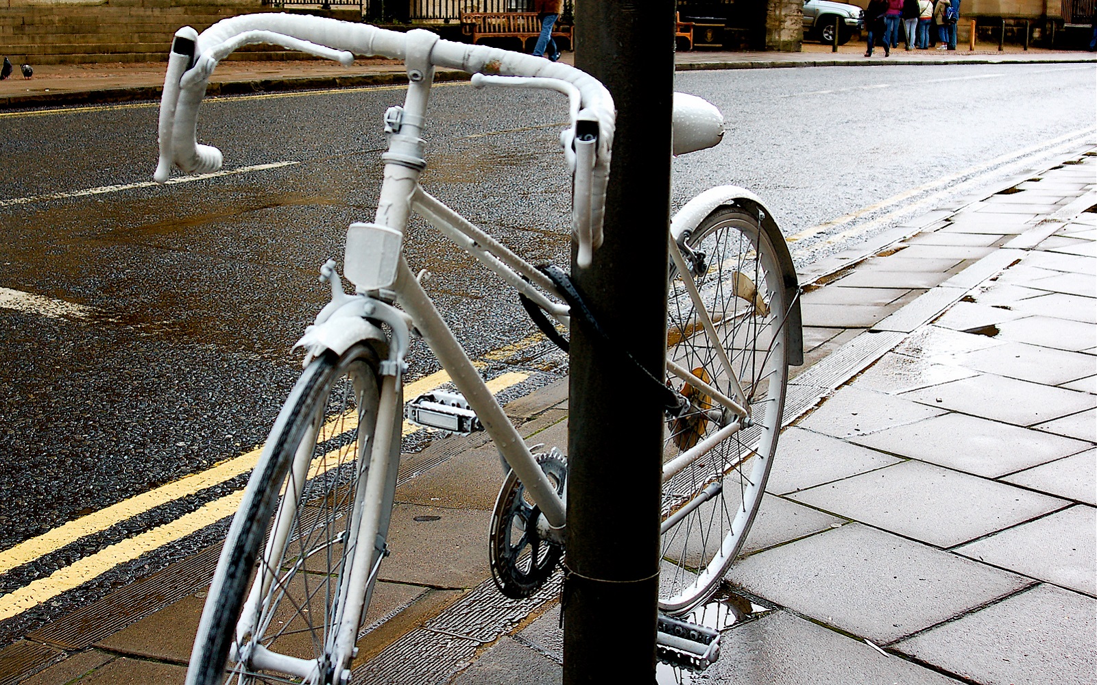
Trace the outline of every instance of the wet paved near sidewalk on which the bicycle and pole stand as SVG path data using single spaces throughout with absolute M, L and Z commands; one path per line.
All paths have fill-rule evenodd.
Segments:
M 723 655 L 682 682 L 1094 681 L 1095 186 L 1087 146 L 802 274 L 791 425 L 694 617 Z M 529 442 L 567 444 L 566 389 L 506 407 Z M 353 683 L 561 681 L 558 583 L 516 603 L 488 578 L 497 472 L 483 433 L 405 455 Z M 0 685 L 182 683 L 218 551 L 0 651 Z

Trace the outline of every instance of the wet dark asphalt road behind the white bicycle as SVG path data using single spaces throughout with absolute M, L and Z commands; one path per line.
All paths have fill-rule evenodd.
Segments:
M 839 219 L 794 244 L 801 264 L 996 190 L 1097 121 L 1093 65 L 699 71 L 677 82 L 721 107 L 727 135 L 675 161 L 675 206 L 731 183 L 761 195 L 787 236 Z M 282 165 L 163 186 L 148 184 L 155 103 L 0 118 L 0 550 L 263 441 L 299 370 L 290 347 L 327 299 L 317 269 L 341 259 L 350 221 L 372 218 L 380 122 L 402 98 L 208 102 L 200 140 L 225 151 L 226 169 Z M 564 100 L 445 84 L 432 112 L 427 190 L 534 263 L 566 263 L 554 125 Z M 471 356 L 530 335 L 513 296 L 446 244 L 422 225 L 406 240 Z M 563 370 L 543 352 L 520 359 L 536 383 Z M 412 377 L 436 369 L 414 350 Z M 0 594 L 124 535 L 0 575 Z

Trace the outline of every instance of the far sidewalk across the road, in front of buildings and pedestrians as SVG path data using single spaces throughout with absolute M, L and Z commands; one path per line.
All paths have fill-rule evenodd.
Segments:
M 1053 64 L 1093 62 L 1093 53 L 1048 50 L 1007 46 L 1002 53 L 996 46 L 965 47 L 953 53 L 928 50 L 894 50 L 892 57 L 882 53 L 866 58 L 863 44 L 850 43 L 832 53 L 826 45 L 805 43 L 801 53 L 678 53 L 679 71 L 690 69 L 757 69 L 782 67 L 829 67 L 863 65 L 950 65 L 950 64 Z M 165 47 L 167 50 L 167 46 Z M 575 53 L 565 53 L 563 61 L 570 64 Z M 167 62 L 105 65 L 42 65 L 34 77 L 23 79 L 19 71 L 0 81 L 0 110 L 38 107 L 60 104 L 94 104 L 131 100 L 159 100 Z M 439 73 L 440 80 L 464 79 L 460 71 Z M 313 90 L 349 88 L 384 83 L 406 83 L 402 62 L 391 59 L 360 59 L 351 67 L 315 59 L 286 61 L 226 60 L 211 78 L 211 95 L 230 95 L 260 91 Z

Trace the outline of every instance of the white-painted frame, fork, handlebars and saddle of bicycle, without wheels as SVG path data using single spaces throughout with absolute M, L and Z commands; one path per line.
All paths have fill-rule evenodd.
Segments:
M 602 203 L 613 130 L 612 100 L 596 80 L 565 65 L 483 46 L 452 44 L 439 41 L 437 35 L 425 31 L 397 34 L 361 24 L 341 24 L 342 22 L 333 20 L 302 15 L 250 14 L 222 21 L 201 36 L 189 27 L 177 33 L 177 46 L 182 41 L 184 48 L 186 42 L 196 45 L 196 48 L 190 55 L 185 49 L 173 48 L 169 59 L 160 112 L 161 156 L 156 179 L 161 182 L 167 180 L 173 164 L 184 171 L 212 171 L 219 168 L 220 152 L 215 148 L 199 146 L 194 140 L 196 111 L 214 66 L 237 47 L 256 42 L 275 43 L 339 59 L 344 64 L 348 62 L 349 53 L 333 48 L 405 59 L 409 84 L 404 105 L 389 109 L 385 115 L 389 147 L 382 156 L 385 165 L 377 210 L 373 222 L 354 224 L 348 232 L 344 271 L 357 286 L 355 295 L 342 293 L 338 274 L 333 274 L 331 266 L 327 265 L 328 271 L 325 273 L 332 282 L 332 301 L 324 308 L 316 324 L 309 327 L 298 344 L 308 349 L 309 356 L 324 350 L 341 354 L 355 342 L 383 338 L 371 320 L 387 323 L 393 331 L 393 339 L 388 341 L 389 357 L 382 363 L 377 426 L 398 426 L 403 413 L 400 398 L 404 354 L 409 330 L 414 328 L 418 331 L 476 412 L 530 499 L 541 510 L 539 533 L 563 543 L 565 502 L 557 495 L 556 488 L 541 470 L 530 448 L 412 274 L 402 253 L 402 243 L 408 218 L 412 213 L 419 215 L 456 247 L 468 252 L 566 328 L 569 323 L 568 307 L 554 301 L 553 298 L 563 298 L 551 279 L 419 186 L 420 174 L 426 168 L 421 136 L 433 70 L 436 65 L 456 66 L 466 71 L 493 73 L 475 73 L 474 85 L 548 88 L 568 95 L 572 128 L 562 134 L 561 141 L 575 178 L 572 218 L 579 243 L 580 267 L 589 264 L 590 253 L 601 242 Z M 495 73 L 514 76 L 500 77 L 494 76 Z M 697 98 L 679 98 L 676 94 L 675 152 L 682 153 L 715 145 L 723 133 L 722 124 L 719 111 L 712 105 Z M 727 189 L 720 196 L 731 201 L 739 196 L 739 191 L 740 189 Z M 687 209 L 689 205 L 683 212 Z M 687 212 L 687 219 L 692 214 L 695 212 Z M 690 219 L 692 226 L 695 227 L 700 218 Z M 672 231 L 674 235 L 668 238 L 670 253 L 679 273 L 688 273 L 688 265 L 676 240 L 685 228 L 688 227 L 679 225 L 678 230 Z M 791 265 L 791 261 L 789 264 Z M 692 286 L 690 278 L 685 278 L 685 282 L 701 326 L 715 339 L 715 324 L 709 318 L 695 286 L 689 287 Z M 389 302 L 400 305 L 406 313 L 391 307 Z M 665 465 L 664 481 L 748 424 L 745 393 L 734 380 L 735 374 L 726 355 L 721 355 L 721 362 L 727 378 L 733 379 L 728 392 L 701 380 L 674 361 L 667 361 L 670 373 L 712 398 L 722 408 L 722 427 Z M 360 522 L 359 528 L 357 532 L 347 532 L 348 549 L 350 543 L 357 540 L 357 544 L 353 551 L 349 551 L 352 557 L 350 566 L 344 567 L 350 569 L 349 576 L 342 583 L 342 592 L 346 593 L 342 608 L 344 614 L 339 620 L 338 635 L 327 646 L 331 655 L 330 663 L 336 669 L 336 678 L 350 663 L 361 620 L 361 600 L 365 598 L 384 549 L 384 540 L 378 535 L 378 522 L 384 506 L 386 475 L 388 469 L 398 467 L 399 449 L 398 444 L 394 444 L 398 439 L 395 438 L 395 432 L 381 430 L 375 433 L 369 461 L 370 478 L 365 492 L 355 498 L 352 514 L 352 520 Z M 309 441 L 305 442 L 309 444 Z M 310 454 L 298 454 L 295 457 L 292 468 L 298 487 L 304 486 L 304 475 L 310 458 Z M 290 494 L 287 493 L 286 501 L 293 500 Z M 292 507 L 284 513 L 280 512 L 264 551 L 264 561 L 281 558 L 281 547 L 286 544 L 293 514 Z M 267 570 L 261 582 L 255 583 L 241 617 L 255 615 L 249 608 L 253 609 L 276 581 L 271 564 L 264 562 L 262 566 Z M 246 620 L 241 618 L 237 627 L 240 639 L 256 628 L 246 625 Z M 234 654 L 233 658 L 237 661 L 246 659 L 258 669 L 295 674 L 306 682 L 314 682 L 320 676 L 316 661 L 278 654 L 255 641 L 248 647 L 247 654 Z

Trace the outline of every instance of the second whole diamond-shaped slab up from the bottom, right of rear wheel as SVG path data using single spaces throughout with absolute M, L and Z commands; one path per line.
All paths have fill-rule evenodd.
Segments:
M 938 547 L 952 547 L 1067 504 L 920 461 L 896 464 L 789 498 Z

